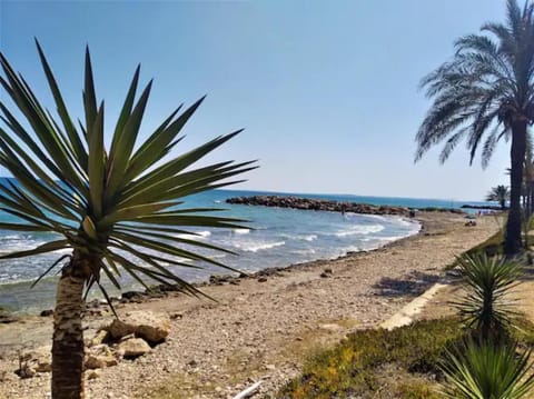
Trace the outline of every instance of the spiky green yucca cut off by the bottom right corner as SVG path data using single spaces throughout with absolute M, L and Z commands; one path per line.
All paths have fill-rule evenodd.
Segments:
M 530 357 L 531 351 L 521 352 L 517 343 L 467 341 L 447 352 L 441 367 L 446 381 L 442 392 L 454 399 L 526 398 L 534 386 Z

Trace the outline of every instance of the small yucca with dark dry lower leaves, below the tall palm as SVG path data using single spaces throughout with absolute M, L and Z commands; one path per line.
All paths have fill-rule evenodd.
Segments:
M 517 315 L 511 290 L 518 283 L 523 266 L 518 261 L 464 255 L 457 259 L 466 295 L 453 302 L 459 317 L 483 339 L 500 338 Z

